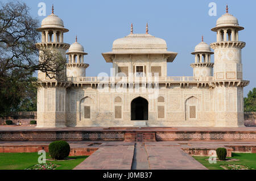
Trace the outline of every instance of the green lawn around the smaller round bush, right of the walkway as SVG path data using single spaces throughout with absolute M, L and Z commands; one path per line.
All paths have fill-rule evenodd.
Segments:
M 225 161 L 217 161 L 217 163 L 209 163 L 209 157 L 193 157 L 200 163 L 202 163 L 205 167 L 210 170 L 224 170 L 220 165 L 227 164 L 236 164 L 236 165 L 246 165 L 251 167 L 251 169 L 256 169 L 256 153 L 232 153 L 232 158 L 240 159 L 240 161 L 233 162 L 225 162 Z

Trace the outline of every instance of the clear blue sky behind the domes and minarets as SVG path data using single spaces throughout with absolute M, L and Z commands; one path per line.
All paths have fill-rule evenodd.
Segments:
M 6 1 L 3 1 L 6 2 Z M 146 23 L 149 33 L 166 40 L 168 50 L 177 52 L 174 62 L 168 63 L 168 76 L 192 76 L 193 69 L 189 66 L 194 57 L 191 54 L 204 35 L 206 43 L 216 41 L 216 33 L 210 31 L 215 27 L 216 20 L 225 13 L 226 4 L 229 13 L 238 18 L 240 26 L 240 41 L 246 42 L 242 49 L 243 79 L 249 80 L 245 87 L 244 96 L 256 87 L 255 72 L 255 43 L 256 43 L 256 1 L 234 0 L 93 0 L 93 1 L 53 1 L 33 0 L 23 1 L 31 8 L 31 15 L 41 22 L 45 16 L 38 16 L 38 3 L 47 6 L 47 15 L 51 14 L 54 4 L 55 14 L 64 21 L 69 29 L 64 35 L 65 43 L 72 44 L 77 35 L 85 52 L 85 62 L 90 64 L 86 76 L 97 76 L 98 73 L 110 73 L 112 64 L 106 63 L 102 52 L 112 49 L 115 39 L 130 33 L 130 24 L 134 25 L 134 33 L 144 33 Z M 210 2 L 217 4 L 217 16 L 209 16 Z M 212 57 L 213 58 L 213 57 Z

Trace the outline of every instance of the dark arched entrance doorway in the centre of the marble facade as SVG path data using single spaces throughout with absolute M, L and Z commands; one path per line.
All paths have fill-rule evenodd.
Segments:
M 131 102 L 131 120 L 148 120 L 148 102 L 142 97 Z

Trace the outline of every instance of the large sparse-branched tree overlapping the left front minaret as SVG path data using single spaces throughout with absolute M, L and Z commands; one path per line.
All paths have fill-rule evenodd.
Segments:
M 36 70 L 58 79 L 67 62 L 54 49 L 36 48 L 39 23 L 29 11 L 19 1 L 0 4 L 0 116 L 19 110 L 28 101 L 28 92 L 39 85 L 33 77 Z

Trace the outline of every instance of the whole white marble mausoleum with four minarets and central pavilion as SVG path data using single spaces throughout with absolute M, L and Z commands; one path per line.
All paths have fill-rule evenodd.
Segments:
M 64 43 L 68 30 L 52 11 L 38 28 L 42 42 L 36 46 L 58 50 L 68 62 L 61 80 L 38 72 L 37 127 L 243 127 L 243 87 L 249 81 L 243 80 L 241 30 L 227 9 L 212 28 L 216 42 L 202 38 L 191 53 L 193 75 L 168 77 L 167 64 L 175 64 L 177 53 L 150 35 L 148 26 L 137 34 L 131 24 L 130 34 L 102 53 L 112 75 L 86 77 L 84 47 L 77 39 Z

